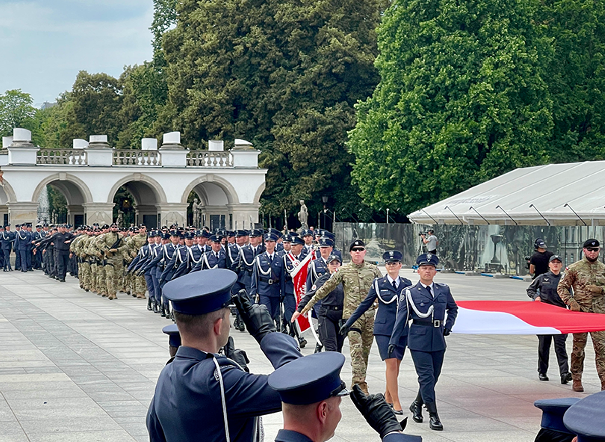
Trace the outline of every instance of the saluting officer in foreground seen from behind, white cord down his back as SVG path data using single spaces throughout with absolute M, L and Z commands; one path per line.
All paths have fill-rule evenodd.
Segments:
M 218 354 L 229 338 L 235 281 L 233 271 L 215 268 L 165 285 L 182 345 L 162 370 L 149 405 L 150 442 L 251 442 L 260 431 L 258 416 L 280 411 L 280 395 L 270 388 L 266 375 L 248 374 Z M 302 356 L 292 337 L 275 333 L 264 306 L 252 304 L 246 294 L 235 303 L 274 368 Z

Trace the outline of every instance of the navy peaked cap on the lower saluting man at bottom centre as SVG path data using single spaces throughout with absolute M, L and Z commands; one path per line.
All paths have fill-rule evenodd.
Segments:
M 195 272 L 201 273 L 201 272 Z M 269 386 L 281 400 L 293 405 L 307 405 L 332 396 L 350 394 L 340 372 L 345 357 L 336 351 L 310 354 L 295 359 L 269 375 Z

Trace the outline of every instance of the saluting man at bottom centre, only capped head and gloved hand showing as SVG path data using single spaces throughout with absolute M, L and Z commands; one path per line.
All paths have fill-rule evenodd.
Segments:
M 341 420 L 342 398 L 350 391 L 340 379 L 345 357 L 328 351 L 293 360 L 269 375 L 269 385 L 281 396 L 284 429 L 276 442 L 325 442 L 331 439 Z M 382 394 L 365 395 L 359 385 L 351 398 L 365 420 L 383 442 L 422 441 L 419 436 L 403 434 Z

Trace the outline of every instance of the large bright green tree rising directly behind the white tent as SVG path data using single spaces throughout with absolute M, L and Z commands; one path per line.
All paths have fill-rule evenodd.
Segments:
M 549 41 L 531 0 L 400 0 L 378 29 L 381 82 L 349 147 L 371 207 L 410 213 L 548 161 Z

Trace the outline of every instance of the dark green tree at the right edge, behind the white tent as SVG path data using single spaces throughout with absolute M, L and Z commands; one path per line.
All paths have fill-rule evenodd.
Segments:
M 548 0 L 540 24 L 552 41 L 546 60 L 556 162 L 605 158 L 605 4 Z

